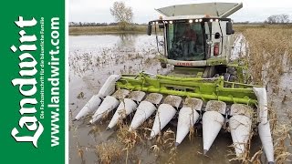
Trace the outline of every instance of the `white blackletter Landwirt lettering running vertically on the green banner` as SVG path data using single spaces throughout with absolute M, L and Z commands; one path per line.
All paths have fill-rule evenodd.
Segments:
M 11 82 L 13 86 L 18 86 L 19 92 L 23 99 L 20 100 L 19 113 L 22 117 L 19 119 L 19 128 L 22 129 L 21 132 L 18 131 L 19 128 L 13 128 L 11 135 L 16 139 L 17 142 L 32 142 L 33 145 L 37 148 L 37 140 L 44 131 L 43 125 L 37 120 L 34 114 L 36 114 L 36 104 L 37 100 L 35 97 L 37 88 L 36 88 L 36 59 L 33 56 L 36 53 L 36 35 L 26 34 L 26 28 L 36 26 L 36 19 L 33 17 L 31 20 L 24 20 L 23 16 L 18 17 L 18 21 L 15 22 L 16 26 L 20 28 L 19 31 L 19 41 L 21 43 L 18 48 L 13 45 L 10 49 L 16 53 L 19 49 L 21 51 L 18 56 L 20 63 L 19 75 L 20 78 L 15 78 Z M 25 127 L 24 127 L 25 126 Z M 29 130 L 32 133 L 30 135 L 25 134 L 24 131 Z

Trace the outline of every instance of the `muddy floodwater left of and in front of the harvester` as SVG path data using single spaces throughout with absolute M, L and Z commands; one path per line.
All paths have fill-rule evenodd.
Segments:
M 155 56 L 155 36 L 69 36 L 69 163 L 99 163 L 96 146 L 118 139 L 116 130 L 105 130 L 110 118 L 95 126 L 87 125 L 89 118 L 76 122 L 71 119 L 90 97 L 99 92 L 111 74 L 135 74 L 140 71 L 167 74 L 172 70 L 172 67 L 163 69 Z M 130 120 L 126 123 L 130 123 Z M 167 128 L 176 131 L 172 125 Z M 229 163 L 229 159 L 234 157 L 228 156 L 234 150 L 228 147 L 232 145 L 230 133 L 222 130 L 208 156 L 203 156 L 202 128 L 198 126 L 196 129 L 191 140 L 188 137 L 183 140 L 174 159 L 171 148 L 163 149 L 158 155 L 151 150 L 155 142 L 145 140 L 130 151 L 132 154 L 128 158 L 121 157 L 115 163 Z M 252 153 L 259 148 L 260 140 L 255 137 L 252 140 Z

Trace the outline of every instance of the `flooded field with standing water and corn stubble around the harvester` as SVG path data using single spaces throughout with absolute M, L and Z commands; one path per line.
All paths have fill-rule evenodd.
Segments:
M 237 41 L 239 45 L 235 45 L 235 48 L 243 46 L 241 40 Z M 292 76 L 290 62 L 285 61 L 285 66 L 282 65 L 285 72 L 276 84 L 275 81 L 269 83 L 267 72 L 264 71 L 263 76 L 267 76 L 265 84 L 270 107 L 276 108 L 281 122 L 290 121 L 290 125 Z M 159 138 L 141 138 L 143 135 L 150 135 L 151 131 L 147 129 L 151 128 L 153 117 L 143 125 L 144 129 L 139 130 L 138 135 L 128 134 L 124 128 L 130 123 L 130 117 L 124 121 L 125 125 L 120 125 L 120 129 L 110 130 L 105 128 L 111 116 L 95 125 L 88 125 L 90 117 L 71 121 L 89 98 L 99 92 L 99 88 L 110 75 L 137 74 L 141 71 L 163 75 L 172 70 L 171 66 L 161 67 L 155 36 L 69 36 L 68 62 L 69 163 L 239 163 L 230 161 L 235 158 L 234 149 L 231 147 L 232 138 L 224 129 L 215 139 L 208 156 L 203 156 L 202 127 L 199 125 L 194 128 L 192 135 L 186 137 L 175 149 L 173 135 L 176 128 L 172 124 L 164 128 Z M 252 139 L 251 156 L 260 149 L 260 139 L 255 136 Z M 265 159 L 261 154 L 259 153 L 258 159 Z

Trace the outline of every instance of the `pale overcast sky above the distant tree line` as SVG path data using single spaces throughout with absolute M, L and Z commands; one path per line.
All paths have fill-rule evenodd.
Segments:
M 119 0 L 69 0 L 69 22 L 114 22 L 110 7 Z M 244 7 L 230 17 L 235 22 L 264 21 L 269 15 L 287 14 L 292 18 L 291 0 L 122 0 L 134 13 L 134 23 L 147 23 L 157 19 L 154 8 L 168 5 L 196 4 L 207 2 L 243 2 Z

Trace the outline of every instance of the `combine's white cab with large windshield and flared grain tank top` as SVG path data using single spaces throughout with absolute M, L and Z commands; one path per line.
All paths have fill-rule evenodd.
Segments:
M 193 75 L 198 71 L 188 67 L 202 68 L 196 70 L 203 71 L 203 77 L 223 74 L 234 43 L 233 24 L 227 16 L 242 7 L 235 3 L 205 3 L 156 9 L 165 17 L 149 22 L 148 35 L 152 26 L 156 35 L 156 25 L 163 30 L 164 40 L 159 44 L 164 46 L 162 66 L 171 64 L 174 70 L 184 67 L 184 73 Z

